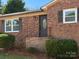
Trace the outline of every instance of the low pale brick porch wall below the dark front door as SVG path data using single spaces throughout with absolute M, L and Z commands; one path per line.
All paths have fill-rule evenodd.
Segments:
M 47 40 L 49 40 L 48 37 L 27 37 L 25 40 L 25 47 L 35 47 L 45 52 L 45 43 Z

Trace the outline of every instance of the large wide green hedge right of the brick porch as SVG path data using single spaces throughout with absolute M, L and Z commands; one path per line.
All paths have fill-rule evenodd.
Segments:
M 71 39 L 47 40 L 46 52 L 48 56 L 57 59 L 72 59 L 77 55 L 77 43 Z

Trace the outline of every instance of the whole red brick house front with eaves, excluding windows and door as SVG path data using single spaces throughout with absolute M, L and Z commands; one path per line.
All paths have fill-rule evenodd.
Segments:
M 47 22 L 44 24 L 47 27 L 47 30 L 45 30 L 45 32 L 47 31 L 46 37 L 75 39 L 77 42 L 79 42 L 79 17 L 77 17 L 77 23 L 63 23 L 63 10 L 73 8 L 77 9 L 78 16 L 79 0 L 55 0 L 54 2 L 44 6 L 42 8 L 43 10 L 40 12 L 24 12 L 19 14 L 14 13 L 1 15 L 0 32 L 3 31 L 2 20 L 20 18 L 20 31 L 10 32 L 10 34 L 15 35 L 16 39 L 20 40 L 20 42 L 27 37 L 39 37 L 39 27 L 43 25 L 42 23 L 40 24 L 40 16 L 47 15 Z M 44 30 L 42 30 L 42 32 L 42 34 L 45 34 Z

